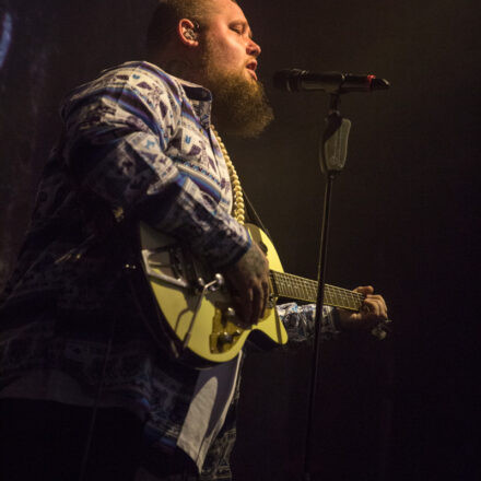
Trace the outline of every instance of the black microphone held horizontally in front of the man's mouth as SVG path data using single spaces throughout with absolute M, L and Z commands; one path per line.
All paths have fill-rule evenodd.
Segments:
M 377 79 L 372 74 L 354 74 L 341 72 L 314 73 L 307 70 L 285 69 L 275 72 L 273 85 L 288 92 L 324 91 L 330 94 L 348 92 L 372 92 L 389 89 L 385 79 Z

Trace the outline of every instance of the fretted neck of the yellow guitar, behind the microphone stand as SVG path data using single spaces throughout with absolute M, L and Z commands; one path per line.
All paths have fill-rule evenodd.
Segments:
M 317 281 L 284 272 L 270 272 L 274 294 L 294 301 L 314 303 L 317 300 Z M 349 310 L 360 310 L 364 295 L 359 292 L 325 284 L 324 304 Z

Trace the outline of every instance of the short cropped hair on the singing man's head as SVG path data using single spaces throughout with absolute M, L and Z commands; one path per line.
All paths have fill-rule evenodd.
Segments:
M 210 3 L 211 0 L 159 0 L 146 34 L 148 54 L 162 50 L 181 19 L 190 19 L 202 27 L 212 11 Z

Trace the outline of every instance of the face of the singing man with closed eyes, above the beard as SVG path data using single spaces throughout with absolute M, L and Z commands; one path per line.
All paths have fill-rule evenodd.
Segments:
M 251 38 L 241 7 L 232 0 L 212 0 L 212 7 L 206 26 L 210 63 L 224 74 L 242 74 L 250 82 L 257 81 L 260 47 Z

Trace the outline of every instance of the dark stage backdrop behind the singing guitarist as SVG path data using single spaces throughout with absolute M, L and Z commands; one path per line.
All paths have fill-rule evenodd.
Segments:
M 142 58 L 154 0 L 0 0 L 0 283 L 14 262 L 67 91 Z M 246 0 L 277 114 L 230 152 L 286 271 L 316 277 L 322 93 L 272 91 L 282 68 L 372 72 L 350 94 L 328 281 L 373 284 L 394 332 L 326 343 L 314 478 L 474 480 L 478 457 L 480 8 L 473 0 Z M 246 362 L 237 480 L 301 479 L 310 350 Z

